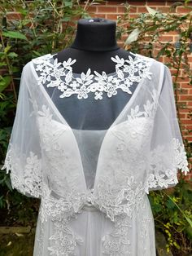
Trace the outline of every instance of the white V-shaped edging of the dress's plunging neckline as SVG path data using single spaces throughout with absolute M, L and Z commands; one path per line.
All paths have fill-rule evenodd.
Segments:
M 135 59 L 139 59 L 141 58 L 142 61 L 145 61 L 143 60 L 142 58 L 142 55 L 136 55 Z M 148 66 L 146 68 L 146 72 L 149 72 L 150 71 L 150 68 L 151 68 L 151 64 L 153 63 L 153 61 L 155 61 L 154 59 L 148 59 L 146 60 L 148 62 Z M 32 70 L 33 70 L 33 73 L 35 75 L 35 77 L 37 77 L 37 80 L 38 80 L 38 75 L 36 73 L 36 70 L 33 66 L 33 62 L 30 63 L 31 64 L 31 67 L 32 67 Z M 124 108 L 120 111 L 119 115 L 116 117 L 115 121 L 112 122 L 112 124 L 106 129 L 106 132 L 105 132 L 105 135 L 103 137 L 103 141 L 101 143 L 101 147 L 99 149 L 99 152 L 98 152 L 98 161 L 97 161 L 97 164 L 96 164 L 96 170 L 95 170 L 95 176 L 94 176 L 94 186 L 91 190 L 94 191 L 94 188 L 96 186 L 96 179 L 97 179 L 97 176 L 98 176 L 98 163 L 100 161 L 100 157 L 101 157 L 101 152 L 103 150 L 103 145 L 105 143 L 105 140 L 107 139 L 107 135 L 109 133 L 109 131 L 112 129 L 112 127 L 114 126 L 118 126 L 120 125 L 119 124 L 116 124 L 118 121 L 120 121 L 120 117 L 122 117 L 124 115 L 124 113 L 126 111 L 128 111 L 129 107 L 133 104 L 133 101 L 134 99 L 137 97 L 137 94 L 139 93 L 139 91 L 141 90 L 142 88 L 142 84 L 145 82 L 146 80 L 146 76 L 144 75 L 141 79 L 140 82 L 137 83 L 137 87 L 136 89 L 134 90 L 133 92 L 133 95 L 131 96 L 131 98 L 129 99 L 129 101 L 127 102 L 127 104 L 124 105 Z M 72 134 L 72 138 L 74 139 L 74 142 L 76 144 L 76 149 L 77 149 L 77 152 L 78 152 L 78 155 L 79 155 L 79 158 L 81 159 L 81 172 L 82 172 L 82 175 L 83 175 L 83 179 L 84 179 L 84 183 L 85 183 L 85 191 L 89 191 L 90 189 L 87 187 L 86 185 L 86 179 L 85 179 L 85 171 L 84 171 L 84 167 L 83 167 L 83 161 L 82 161 L 82 158 L 81 158 L 81 152 L 80 152 L 80 148 L 79 148 L 79 145 L 77 143 L 77 140 L 76 140 L 76 135 L 72 129 L 72 127 L 68 124 L 68 121 L 62 116 L 62 114 L 59 112 L 59 109 L 56 107 L 56 105 L 54 104 L 53 100 L 50 98 L 50 95 L 47 93 L 45 87 L 43 86 L 42 83 L 39 83 L 39 86 L 41 88 L 41 91 L 42 91 L 42 94 L 45 95 L 48 103 L 50 104 L 50 107 L 53 109 L 53 111 L 55 112 L 55 115 L 59 118 L 59 120 L 61 121 L 61 124 L 63 124 L 63 126 L 68 126 L 68 129 L 71 131 L 71 134 Z M 81 131 L 81 130 L 79 130 Z

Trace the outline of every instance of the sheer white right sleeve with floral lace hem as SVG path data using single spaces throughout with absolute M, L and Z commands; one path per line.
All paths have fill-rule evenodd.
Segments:
M 146 192 L 173 187 L 177 171 L 189 172 L 188 161 L 177 119 L 172 75 L 164 64 L 164 80 L 159 93 L 148 158 Z

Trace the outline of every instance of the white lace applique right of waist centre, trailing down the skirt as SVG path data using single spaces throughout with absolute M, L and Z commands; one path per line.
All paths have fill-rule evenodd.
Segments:
M 126 256 L 130 254 L 129 231 L 130 220 L 143 205 L 145 196 L 142 182 L 137 183 L 132 177 L 126 177 L 126 184 L 118 189 L 115 184 L 110 183 L 106 177 L 105 181 L 98 182 L 98 197 L 95 199 L 99 209 L 107 214 L 114 222 L 114 228 L 110 234 L 103 236 L 103 254 L 113 256 Z

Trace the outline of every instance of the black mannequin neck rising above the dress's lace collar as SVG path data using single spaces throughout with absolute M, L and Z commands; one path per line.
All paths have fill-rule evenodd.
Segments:
M 78 20 L 76 38 L 70 47 L 84 51 L 120 49 L 116 43 L 116 22 L 102 18 Z

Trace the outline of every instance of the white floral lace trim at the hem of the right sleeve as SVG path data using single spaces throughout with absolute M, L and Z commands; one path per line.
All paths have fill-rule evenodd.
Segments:
M 166 168 L 164 161 L 168 156 L 172 157 L 172 166 Z M 168 188 L 169 185 L 177 184 L 177 169 L 181 169 L 185 175 L 190 171 L 184 145 L 181 145 L 179 139 L 172 138 L 171 143 L 159 145 L 150 152 L 149 157 L 151 174 L 146 179 L 146 193 L 149 193 L 149 189 Z

